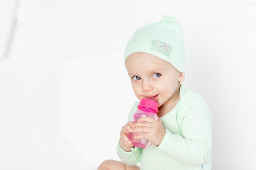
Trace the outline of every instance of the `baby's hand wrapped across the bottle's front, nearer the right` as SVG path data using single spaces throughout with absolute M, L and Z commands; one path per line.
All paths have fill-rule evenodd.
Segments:
M 152 117 L 141 117 L 137 123 L 131 126 L 132 132 L 146 132 L 135 136 L 135 139 L 148 139 L 155 146 L 159 146 L 164 139 L 165 129 L 160 119 L 155 120 Z

